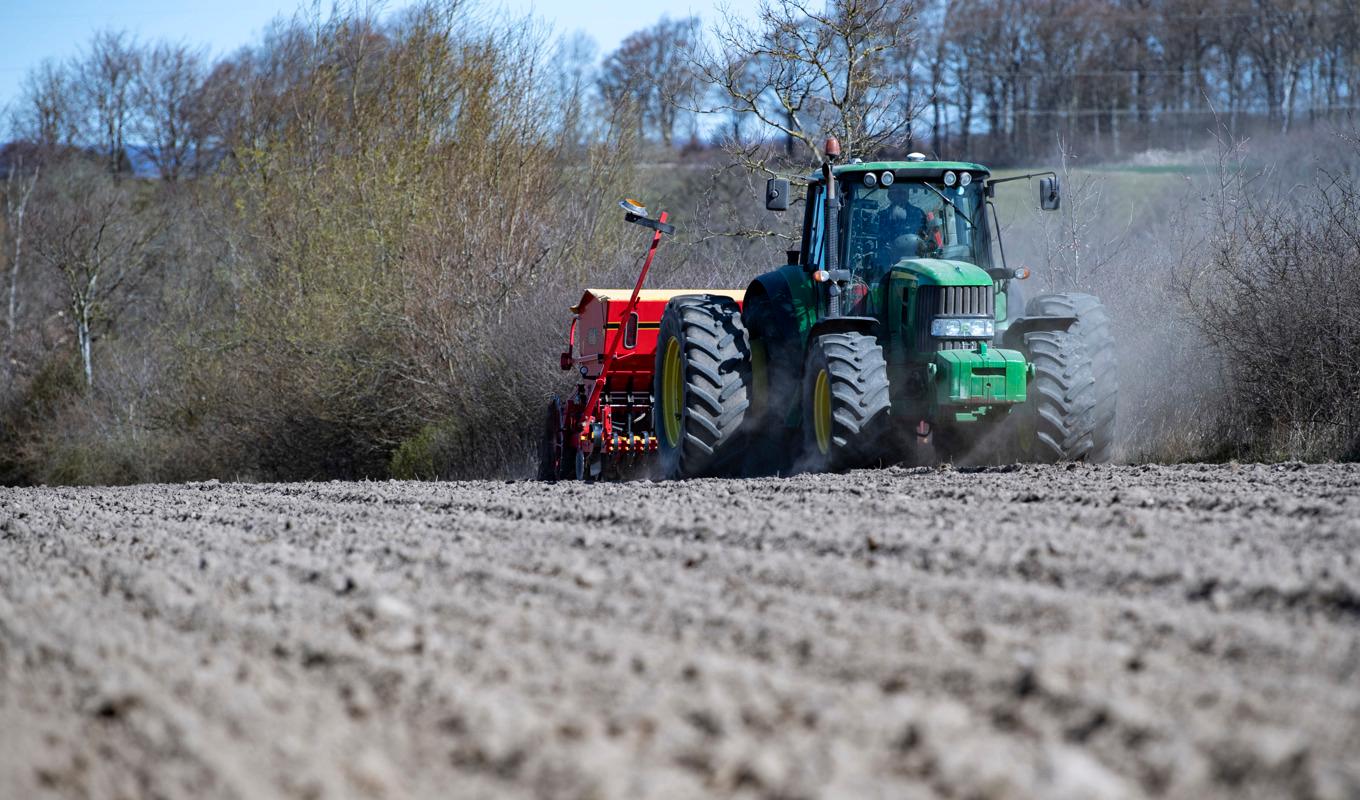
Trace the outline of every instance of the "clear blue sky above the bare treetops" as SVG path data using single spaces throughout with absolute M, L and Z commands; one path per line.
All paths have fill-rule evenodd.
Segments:
M 385 10 L 408 5 L 407 0 L 373 4 Z M 486 5 L 487 1 L 479 3 Z M 680 0 L 670 4 L 620 3 L 617 0 L 491 0 L 511 12 L 533 11 L 559 31 L 582 30 L 608 53 L 634 30 L 672 18 L 698 15 L 711 22 L 718 7 L 749 15 L 758 0 Z M 250 44 L 271 20 L 291 15 L 310 0 L 0 0 L 0 106 L 12 102 L 24 73 L 44 59 L 79 54 L 98 30 L 126 30 L 139 39 L 171 39 L 204 46 L 214 56 Z M 330 7 L 330 0 L 321 4 Z

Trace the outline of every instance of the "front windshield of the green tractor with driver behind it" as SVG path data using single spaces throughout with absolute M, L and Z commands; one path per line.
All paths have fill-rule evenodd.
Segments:
M 991 265 L 982 181 L 967 186 L 847 181 L 846 265 L 876 283 L 904 259 L 951 259 Z

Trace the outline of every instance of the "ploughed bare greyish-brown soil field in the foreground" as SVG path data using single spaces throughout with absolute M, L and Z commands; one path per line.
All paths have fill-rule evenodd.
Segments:
M 0 797 L 1357 797 L 1360 467 L 0 490 Z

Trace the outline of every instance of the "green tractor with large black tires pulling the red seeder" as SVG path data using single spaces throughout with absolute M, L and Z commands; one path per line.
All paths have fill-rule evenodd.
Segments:
M 1114 339 L 1087 294 L 1021 299 L 991 197 L 1054 173 L 976 163 L 832 163 L 808 176 L 802 237 L 741 302 L 677 297 L 656 350 L 661 472 L 838 471 L 921 453 L 979 461 L 1104 461 L 1114 446 Z M 789 207 L 771 180 L 767 208 Z M 993 246 L 996 244 L 996 246 Z M 993 257 L 996 252 L 1000 259 Z

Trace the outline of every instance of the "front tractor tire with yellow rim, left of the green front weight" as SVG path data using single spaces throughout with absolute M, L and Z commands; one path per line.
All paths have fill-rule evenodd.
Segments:
M 873 336 L 823 333 L 812 341 L 802 371 L 804 468 L 826 472 L 876 463 L 884 454 L 889 411 L 888 363 Z

